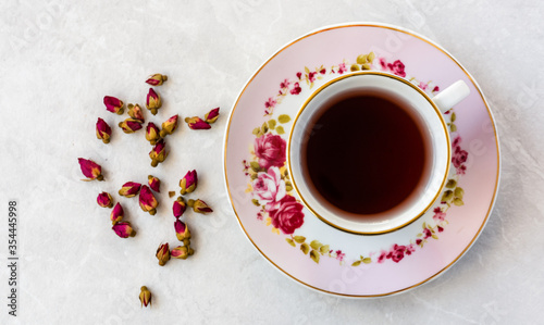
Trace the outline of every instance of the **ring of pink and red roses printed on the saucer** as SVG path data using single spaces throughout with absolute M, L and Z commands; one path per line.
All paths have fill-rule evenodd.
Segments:
M 395 60 L 393 62 L 387 62 L 385 58 L 376 58 L 374 62 L 378 64 L 372 65 L 373 70 L 382 70 L 385 72 L 391 72 L 399 77 L 406 77 L 406 66 L 400 60 Z M 314 71 L 310 71 L 305 67 L 304 72 L 297 72 L 296 79 L 289 80 L 285 78 L 280 83 L 280 90 L 276 97 L 270 97 L 264 102 L 264 115 L 272 115 L 273 109 L 281 103 L 283 97 L 287 95 L 297 96 L 302 92 L 301 84 L 306 83 L 309 85 L 310 89 L 313 84 L 321 78 L 321 75 L 326 74 L 338 74 L 342 75 L 348 72 L 346 61 L 339 63 L 337 66 L 332 66 L 326 68 L 324 66 L 318 67 Z M 436 85 L 431 85 L 432 83 L 417 82 L 415 78 L 410 80 L 416 82 L 416 86 L 421 88 L 423 91 L 437 92 L 440 87 Z M 452 110 L 450 110 L 452 111 Z M 447 114 L 450 113 L 447 112 Z M 468 152 L 460 147 L 461 137 L 457 135 L 452 142 L 452 164 L 456 168 L 455 176 L 458 178 L 460 175 L 465 175 L 467 171 L 466 162 L 468 159 Z M 285 180 L 282 179 L 279 167 L 285 164 L 285 149 L 286 142 L 280 135 L 264 134 L 256 138 L 255 140 L 255 154 L 258 159 L 258 163 L 261 172 L 257 173 L 257 178 L 252 182 L 252 198 L 259 204 L 262 204 L 262 210 L 258 212 L 257 217 L 263 220 L 263 216 L 268 214 L 271 218 L 272 225 L 280 229 L 283 234 L 292 235 L 297 228 L 304 224 L 304 205 L 300 204 L 293 196 L 288 195 L 286 191 Z M 246 175 L 249 165 L 244 161 Z M 456 180 L 457 182 L 457 180 Z M 433 210 L 433 221 L 436 223 L 435 226 L 423 224 L 423 230 L 418 234 L 418 238 L 408 245 L 397 245 L 394 243 L 388 250 L 382 250 L 376 258 L 378 263 L 384 263 L 386 260 L 391 260 L 394 263 L 400 262 L 405 257 L 412 254 L 417 247 L 423 248 L 423 245 L 428 239 L 438 239 L 438 233 L 444 232 L 444 226 L 447 224 L 446 211 L 449 209 L 450 204 L 443 201 L 441 207 L 436 207 Z M 290 237 L 294 238 L 294 237 Z M 296 238 L 296 236 L 295 236 Z M 287 239 L 293 242 L 292 239 Z M 295 246 L 294 243 L 292 243 Z M 371 255 L 374 253 L 371 253 Z M 335 258 L 341 263 L 345 260 L 345 253 L 342 250 L 330 250 L 329 257 Z M 318 259 L 319 261 L 319 259 Z M 317 261 L 317 262 L 318 262 Z M 359 265 L 361 261 L 354 263 L 354 266 Z

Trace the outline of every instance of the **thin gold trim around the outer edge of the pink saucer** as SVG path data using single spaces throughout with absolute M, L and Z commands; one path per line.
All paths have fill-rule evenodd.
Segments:
M 249 234 L 247 233 L 246 228 L 244 227 L 244 225 L 242 224 L 242 221 L 238 216 L 238 213 L 236 211 L 236 208 L 234 207 L 234 203 L 233 203 L 233 197 L 232 197 L 232 193 L 231 193 L 231 188 L 228 187 L 228 177 L 226 175 L 226 146 L 228 143 L 228 132 L 231 129 L 231 122 L 232 122 L 232 118 L 233 118 L 233 115 L 234 115 L 234 112 L 238 105 L 238 101 L 239 99 L 242 98 L 242 96 L 244 95 L 244 92 L 246 91 L 247 87 L 249 86 L 249 84 L 251 84 L 251 82 L 255 79 L 255 77 L 259 74 L 259 72 L 272 60 L 274 59 L 275 57 L 277 57 L 281 52 L 283 52 L 284 50 L 286 50 L 287 48 L 289 48 L 292 45 L 305 39 L 305 38 L 308 38 L 310 36 L 313 36 L 313 35 L 317 35 L 317 34 L 320 34 L 320 33 L 323 33 L 323 32 L 327 32 L 327 30 L 332 30 L 332 29 L 338 29 L 338 28 L 346 28 L 346 27 L 379 27 L 379 28 L 385 28 L 385 29 L 392 29 L 392 30 L 395 30 L 395 32 L 400 32 L 400 33 L 404 33 L 404 34 L 407 34 L 407 35 L 410 35 L 410 36 L 413 36 L 426 43 L 429 43 L 430 46 L 432 46 L 433 48 L 437 49 L 438 51 L 443 52 L 445 55 L 447 55 L 452 61 L 454 61 L 458 66 L 459 68 L 465 73 L 465 75 L 471 80 L 471 83 L 475 86 L 475 89 L 478 90 L 478 93 L 480 95 L 480 97 L 482 98 L 483 100 L 483 103 L 485 104 L 485 109 L 487 110 L 487 113 L 490 115 L 490 118 L 491 121 L 493 122 L 492 125 L 493 125 L 493 133 L 494 133 L 494 136 L 495 136 L 495 145 L 496 145 L 496 149 L 497 149 L 497 173 L 496 173 L 496 183 L 495 183 L 495 189 L 493 191 L 493 197 L 492 197 L 492 200 L 490 202 L 490 205 L 489 205 L 489 209 L 487 209 L 487 213 L 485 215 L 485 218 L 483 220 L 482 222 L 482 225 L 480 226 L 480 228 L 478 229 L 477 234 L 474 235 L 474 237 L 470 240 L 470 242 L 467 245 L 467 247 L 459 253 L 459 255 L 457 258 L 455 258 L 449 264 L 447 264 L 446 266 L 444 266 L 442 270 L 440 270 L 438 272 L 436 272 L 434 275 L 425 278 L 424 280 L 421 280 L 415 285 L 411 285 L 411 286 L 408 286 L 406 288 L 403 288 L 403 289 L 398 289 L 398 290 L 395 290 L 395 291 L 390 291 L 390 292 L 384 292 L 384 293 L 379 293 L 379 295 L 347 295 L 347 293 L 338 293 L 338 292 L 333 292 L 333 291 L 329 291 L 329 290 L 325 290 L 325 289 L 321 289 L 321 288 L 318 288 L 318 287 L 314 287 L 310 284 L 307 284 L 298 278 L 296 278 L 295 276 L 290 275 L 288 272 L 286 272 L 285 270 L 283 270 L 282 267 L 280 267 L 277 264 L 275 264 L 267 254 L 264 254 L 262 252 L 262 250 L 255 243 L 255 241 L 251 239 L 251 237 L 249 236 Z M 493 205 L 495 203 L 495 200 L 496 200 L 496 197 L 497 197 L 497 189 L 498 189 L 498 182 L 499 182 L 499 177 L 500 177 L 500 148 L 498 147 L 498 135 L 497 135 L 497 129 L 496 129 L 496 126 L 495 126 L 495 120 L 493 118 L 493 114 L 490 110 L 490 107 L 487 105 L 487 102 L 485 100 L 485 97 L 483 96 L 482 91 L 480 90 L 477 82 L 472 78 L 472 76 L 465 70 L 465 67 L 462 67 L 462 65 L 459 64 L 459 62 L 457 62 L 457 60 L 455 60 L 449 53 L 447 53 L 445 50 L 443 50 L 441 47 L 438 47 L 437 45 L 435 45 L 434 42 L 432 42 L 431 40 L 428 40 L 426 38 L 424 38 L 423 36 L 420 36 L 420 35 L 417 35 L 417 34 L 413 34 L 411 32 L 407 32 L 407 30 L 404 30 L 404 29 L 400 29 L 400 28 L 397 28 L 397 27 L 393 27 L 393 26 L 387 26 L 387 25 L 383 25 L 383 24 L 376 24 L 376 23 L 369 23 L 369 24 L 346 24 L 346 25 L 336 25 L 336 26 L 332 26 L 332 27 L 327 27 L 327 28 L 323 28 L 323 29 L 319 29 L 319 30 L 316 30 L 316 32 L 312 32 L 310 34 L 307 34 L 300 38 L 297 38 L 295 39 L 294 41 L 287 43 L 286 46 L 284 46 L 283 48 L 281 48 L 277 52 L 275 52 L 272 57 L 270 57 L 255 73 L 254 75 L 249 78 L 249 80 L 245 84 L 244 86 L 244 89 L 242 89 L 240 93 L 238 95 L 238 98 L 236 99 L 236 102 L 234 103 L 233 105 L 233 109 L 231 111 L 231 114 L 228 116 L 228 121 L 227 121 L 227 126 L 226 126 L 226 129 L 225 129 L 225 142 L 224 142 L 224 147 L 223 147 L 223 172 L 224 172 L 224 176 L 225 176 L 225 186 L 226 186 L 226 190 L 228 192 L 228 199 L 231 200 L 231 205 L 233 207 L 233 211 L 234 211 L 234 214 L 236 215 L 236 218 L 238 221 L 238 224 L 239 226 L 242 227 L 242 229 L 244 230 L 244 233 L 246 234 L 246 237 L 249 239 L 249 241 L 251 241 L 251 243 L 254 245 L 254 247 L 259 251 L 259 253 L 264 257 L 264 259 L 267 259 L 272 265 L 274 265 L 277 270 L 280 270 L 281 272 L 283 272 L 286 276 L 290 277 L 293 280 L 304 285 L 304 286 L 307 286 L 316 291 L 320 291 L 320 292 L 324 292 L 324 293 L 329 293 L 329 295 L 333 295 L 333 296 L 337 296 L 337 297 L 347 297 L 347 298 L 375 298 L 375 297 L 384 297 L 384 296 L 391 296 L 391 295 L 396 295 L 396 293 L 400 293 L 400 292 L 404 292 L 404 291 L 407 291 L 407 290 L 410 290 L 412 288 L 416 288 L 422 284 L 425 284 L 434 278 L 436 278 L 438 275 L 441 275 L 444 271 L 446 271 L 447 268 L 449 268 L 452 265 L 454 265 L 471 247 L 472 245 L 474 243 L 474 241 L 478 239 L 478 237 L 480 236 L 480 233 L 482 232 L 483 227 L 485 226 L 485 224 L 487 223 L 487 220 L 490 217 L 490 214 L 491 214 L 491 211 L 493 209 Z

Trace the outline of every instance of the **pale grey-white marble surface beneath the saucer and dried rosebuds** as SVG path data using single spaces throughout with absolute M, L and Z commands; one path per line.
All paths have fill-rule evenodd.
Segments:
M 0 323 L 542 323 L 543 13 L 537 1 L 490 0 L 2 1 L 0 260 L 8 200 L 16 199 L 20 296 L 17 317 L 9 316 L 1 267 Z M 255 70 L 309 30 L 355 21 L 400 25 L 449 50 L 489 98 L 502 140 L 500 190 L 472 249 L 436 280 L 375 300 L 326 297 L 274 270 L 240 232 L 221 172 L 225 115 Z M 171 157 L 152 170 L 143 134 L 122 134 L 101 100 L 143 103 L 143 80 L 154 72 L 170 80 L 149 121 L 218 105 L 223 115 L 206 133 L 180 129 Z M 108 146 L 95 137 L 97 116 L 115 126 Z M 78 157 L 101 162 L 108 182 L 81 182 Z M 158 245 L 175 243 L 166 191 L 189 168 L 215 212 L 187 217 L 195 257 L 160 267 Z M 121 199 L 138 235 L 120 239 L 96 195 L 150 173 L 163 180 L 164 203 L 149 216 L 137 199 Z M 141 285 L 153 292 L 151 309 L 139 307 Z

